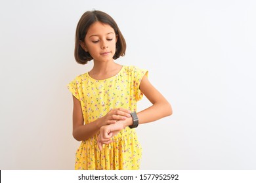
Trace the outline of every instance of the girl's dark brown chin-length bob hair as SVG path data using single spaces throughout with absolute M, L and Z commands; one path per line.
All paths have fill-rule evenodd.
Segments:
M 126 50 L 126 43 L 121 31 L 119 30 L 115 20 L 106 14 L 105 12 L 99 10 L 87 11 L 85 12 L 76 27 L 75 32 L 75 60 L 77 63 L 86 64 L 88 61 L 93 59 L 89 52 L 85 52 L 81 45 L 79 44 L 80 41 L 85 41 L 85 35 L 89 27 L 94 24 L 95 22 L 102 22 L 102 24 L 108 24 L 112 27 L 118 36 L 116 42 L 116 53 L 114 54 L 114 59 L 119 58 L 119 56 L 125 55 Z

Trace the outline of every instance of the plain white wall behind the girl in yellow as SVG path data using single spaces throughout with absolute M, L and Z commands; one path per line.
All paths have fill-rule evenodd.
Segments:
M 122 65 L 148 69 L 173 115 L 137 129 L 141 169 L 256 169 L 256 2 L 0 1 L 0 169 L 74 169 L 66 84 L 86 10 L 116 20 Z M 139 110 L 149 107 L 146 97 Z

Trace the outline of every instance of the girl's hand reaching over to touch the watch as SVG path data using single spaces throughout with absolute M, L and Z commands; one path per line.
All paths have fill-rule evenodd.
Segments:
M 130 110 L 127 110 L 125 108 L 113 108 L 108 112 L 108 114 L 102 117 L 102 122 L 100 123 L 100 126 L 116 124 L 117 121 L 125 120 L 129 117 L 131 117 Z

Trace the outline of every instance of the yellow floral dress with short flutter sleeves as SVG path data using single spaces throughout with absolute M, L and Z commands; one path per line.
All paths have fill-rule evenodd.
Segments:
M 137 111 L 137 101 L 143 93 L 139 86 L 148 71 L 135 66 L 123 66 L 117 75 L 95 80 L 89 73 L 77 76 L 68 89 L 81 102 L 84 124 L 105 116 L 112 108 Z M 98 133 L 82 141 L 75 154 L 75 169 L 139 169 L 142 148 L 135 129 L 125 127 L 114 136 L 114 142 L 97 146 Z

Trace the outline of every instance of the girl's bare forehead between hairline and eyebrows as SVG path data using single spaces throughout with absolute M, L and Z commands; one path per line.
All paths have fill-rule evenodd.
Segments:
M 110 25 L 103 24 L 102 22 L 95 22 L 89 27 L 86 37 L 90 37 L 91 35 L 106 35 L 108 33 L 115 33 Z

